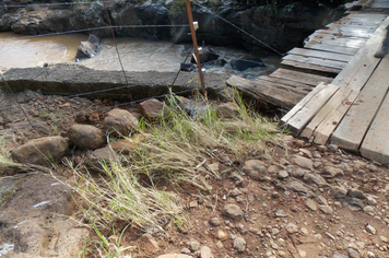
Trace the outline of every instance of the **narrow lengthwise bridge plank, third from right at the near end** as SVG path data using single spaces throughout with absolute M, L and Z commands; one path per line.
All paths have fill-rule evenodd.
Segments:
M 343 87 L 345 90 L 345 87 Z M 342 90 L 343 90 L 342 89 Z M 355 98 L 359 95 L 359 91 L 352 91 L 350 95 L 340 103 L 340 106 L 331 112 L 331 115 L 327 116 L 313 133 L 314 142 L 317 144 L 326 144 L 329 138 L 332 136 L 333 130 L 342 120 Z

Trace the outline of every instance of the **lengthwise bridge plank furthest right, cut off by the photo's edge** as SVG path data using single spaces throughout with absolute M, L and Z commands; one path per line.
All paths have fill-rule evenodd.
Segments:
M 386 96 L 370 129 L 361 146 L 364 157 L 379 163 L 389 163 L 389 97 Z

